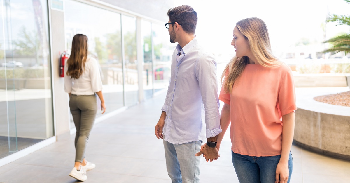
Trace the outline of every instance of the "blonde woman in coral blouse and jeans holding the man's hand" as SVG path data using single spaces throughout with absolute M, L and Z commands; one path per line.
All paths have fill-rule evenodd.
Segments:
M 226 66 L 217 148 L 231 123 L 232 162 L 239 182 L 289 183 L 293 163 L 295 88 L 290 68 L 271 51 L 265 22 L 252 17 L 233 29 L 236 56 Z

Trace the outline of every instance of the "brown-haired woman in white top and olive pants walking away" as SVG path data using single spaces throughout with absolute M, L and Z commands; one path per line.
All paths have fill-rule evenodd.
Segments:
M 86 171 L 96 167 L 85 159 L 87 140 L 97 112 L 96 94 L 101 100 L 102 114 L 106 111 L 98 63 L 87 55 L 85 35 L 77 34 L 73 37 L 72 51 L 64 73 L 64 91 L 69 94 L 69 107 L 77 129 L 75 165 L 69 176 L 85 181 Z

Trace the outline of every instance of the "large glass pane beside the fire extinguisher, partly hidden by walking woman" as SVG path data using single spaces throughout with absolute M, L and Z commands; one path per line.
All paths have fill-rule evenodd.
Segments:
M 81 33 L 87 36 L 89 54 L 100 64 L 106 113 L 123 107 L 120 14 L 72 0 L 66 0 L 64 8 L 68 51 L 70 52 L 74 35 Z M 100 116 L 100 105 L 98 107 L 97 116 Z M 71 127 L 74 127 L 74 124 Z

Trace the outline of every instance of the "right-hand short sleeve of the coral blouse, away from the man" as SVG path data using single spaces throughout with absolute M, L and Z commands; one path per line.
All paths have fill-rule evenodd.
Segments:
M 288 66 L 280 82 L 280 91 L 278 93 L 278 105 L 281 115 L 293 112 L 296 108 L 295 85 L 292 70 Z

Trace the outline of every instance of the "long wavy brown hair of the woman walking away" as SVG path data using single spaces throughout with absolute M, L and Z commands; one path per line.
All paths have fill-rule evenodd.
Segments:
M 87 37 L 77 34 L 73 37 L 72 51 L 67 60 L 68 70 L 66 75 L 78 79 L 83 74 L 87 58 Z

